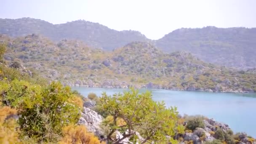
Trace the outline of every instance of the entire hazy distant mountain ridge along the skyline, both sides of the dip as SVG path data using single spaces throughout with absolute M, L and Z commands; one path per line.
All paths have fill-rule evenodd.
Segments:
M 11 37 L 40 34 L 54 41 L 82 40 L 92 48 L 112 51 L 133 41 L 151 42 L 163 51 L 187 51 L 203 61 L 227 67 L 256 67 L 256 28 L 204 27 L 176 29 L 159 40 L 138 31 L 117 31 L 84 20 L 51 24 L 32 18 L 0 19 L 0 34 Z

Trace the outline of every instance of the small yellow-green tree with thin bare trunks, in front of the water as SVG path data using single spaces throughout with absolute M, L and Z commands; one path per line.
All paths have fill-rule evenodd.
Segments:
M 166 142 L 166 135 L 175 135 L 178 120 L 176 108 L 166 109 L 163 102 L 153 101 L 149 91 L 139 94 L 131 88 L 131 91 L 124 92 L 123 95 L 119 93 L 107 96 L 103 93 L 101 103 L 101 109 L 113 118 L 111 123 L 103 123 L 109 128 L 106 140 L 110 143 L 118 144 L 125 138 L 137 141 L 136 131 L 145 138 L 138 141 L 141 144 Z M 120 118 L 125 125 L 118 124 Z M 112 139 L 116 131 L 123 133 L 123 137 Z

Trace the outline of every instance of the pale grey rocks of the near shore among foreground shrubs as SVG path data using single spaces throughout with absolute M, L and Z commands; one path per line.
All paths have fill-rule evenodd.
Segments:
M 79 125 L 85 125 L 88 128 L 88 131 L 94 133 L 99 139 L 104 139 L 104 133 L 101 128 L 101 122 L 104 118 L 99 115 L 97 112 L 93 111 L 91 108 L 94 107 L 95 101 L 85 101 L 82 116 L 78 122 Z M 185 121 L 185 116 L 179 116 L 179 119 L 184 120 L 184 125 L 187 124 Z M 204 144 L 205 142 L 218 141 L 219 131 L 222 131 L 225 135 L 225 139 L 233 139 L 228 142 L 228 144 L 256 144 L 255 139 L 248 136 L 246 133 L 237 133 L 233 134 L 233 131 L 229 128 L 229 125 L 224 123 L 219 123 L 214 119 L 204 118 L 203 127 L 195 128 L 194 131 L 185 131 L 185 133 L 176 135 L 176 139 L 179 141 L 179 144 Z M 136 133 L 139 139 L 143 139 L 139 133 Z M 229 138 L 227 138 L 227 136 Z M 121 133 L 116 134 L 116 137 L 122 137 Z M 171 139 L 170 136 L 166 138 Z M 132 144 L 129 139 L 124 139 L 122 143 Z M 209 143 L 210 144 L 210 143 Z M 219 143 L 211 143 L 219 144 Z

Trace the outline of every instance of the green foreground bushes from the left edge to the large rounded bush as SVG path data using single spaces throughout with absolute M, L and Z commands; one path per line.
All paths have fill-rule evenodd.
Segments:
M 5 105 L 16 108 L 21 137 L 38 141 L 56 141 L 62 128 L 77 123 L 80 108 L 69 87 L 51 83 L 47 87 L 26 81 L 0 82 L 0 96 Z

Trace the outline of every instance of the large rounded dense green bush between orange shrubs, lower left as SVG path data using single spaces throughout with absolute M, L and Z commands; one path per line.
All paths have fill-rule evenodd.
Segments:
M 25 97 L 19 108 L 21 130 L 38 139 L 56 140 L 64 126 L 76 123 L 80 117 L 79 108 L 70 104 L 70 99 L 70 88 L 55 82 L 42 88 L 39 96 Z

